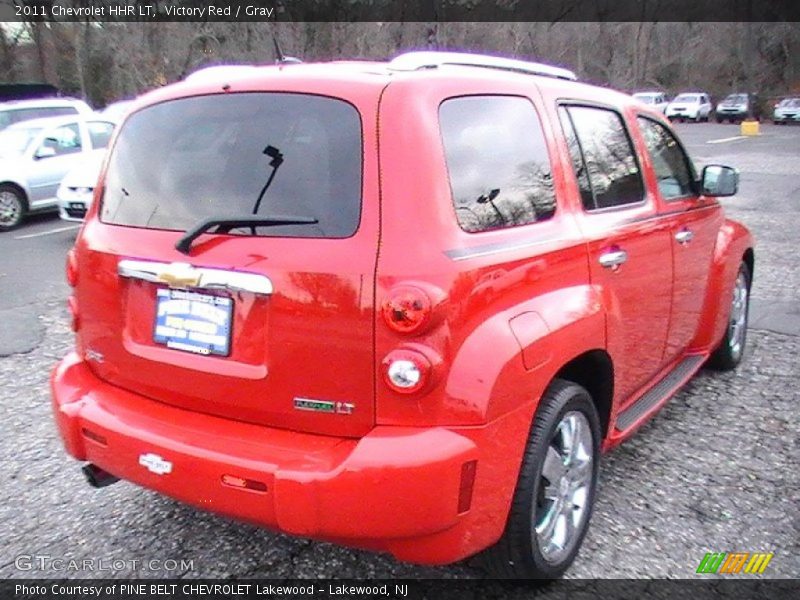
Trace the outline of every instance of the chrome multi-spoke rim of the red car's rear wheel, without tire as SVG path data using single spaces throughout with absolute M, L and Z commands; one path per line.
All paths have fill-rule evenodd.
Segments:
M 570 411 L 547 448 L 532 515 L 538 547 L 550 563 L 562 560 L 580 537 L 589 509 L 594 444 L 589 421 Z

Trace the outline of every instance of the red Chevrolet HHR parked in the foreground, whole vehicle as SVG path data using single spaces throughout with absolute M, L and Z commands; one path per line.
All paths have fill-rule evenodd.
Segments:
M 742 359 L 754 261 L 716 198 L 737 172 L 698 176 L 661 114 L 574 79 L 423 52 L 137 100 L 51 382 L 89 482 L 561 575 L 601 452 Z

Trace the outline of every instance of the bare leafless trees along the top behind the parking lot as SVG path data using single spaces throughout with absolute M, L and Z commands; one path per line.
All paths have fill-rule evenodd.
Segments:
M 485 52 L 574 70 L 624 91 L 800 94 L 800 24 L 121 23 L 0 27 L 0 80 L 46 82 L 101 107 L 202 66 L 269 64 L 273 39 L 304 61 L 390 58 L 411 49 Z

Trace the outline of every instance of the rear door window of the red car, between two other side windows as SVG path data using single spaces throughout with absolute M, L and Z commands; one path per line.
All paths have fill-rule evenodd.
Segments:
M 614 111 L 587 106 L 567 108 L 580 149 L 573 166 L 580 183 L 586 173 L 591 202 L 582 192 L 587 210 L 640 202 L 644 184 L 622 117 Z

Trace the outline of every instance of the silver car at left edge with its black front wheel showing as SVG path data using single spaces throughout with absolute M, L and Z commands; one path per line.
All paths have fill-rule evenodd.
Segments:
M 114 123 L 102 117 L 50 117 L 0 131 L 0 231 L 31 212 L 57 207 L 64 176 L 93 150 L 108 145 Z

